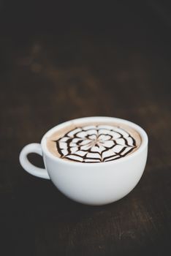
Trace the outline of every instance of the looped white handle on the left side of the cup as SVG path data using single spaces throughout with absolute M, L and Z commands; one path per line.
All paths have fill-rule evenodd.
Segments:
M 31 143 L 25 146 L 22 151 L 20 151 L 20 165 L 25 169 L 28 173 L 37 176 L 39 178 L 47 178 L 50 179 L 50 176 L 47 173 L 47 170 L 44 168 L 36 167 L 28 161 L 27 155 L 30 153 L 37 153 L 42 156 L 42 148 L 39 143 Z

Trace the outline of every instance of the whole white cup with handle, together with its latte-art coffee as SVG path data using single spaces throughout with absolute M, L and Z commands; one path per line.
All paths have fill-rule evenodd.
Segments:
M 113 124 L 113 129 L 110 129 L 111 124 Z M 72 127 L 72 129 L 69 127 Z M 87 127 L 91 128 L 88 129 Z M 78 139 L 75 140 L 79 141 L 79 145 L 82 145 L 79 146 L 79 148 L 83 148 L 83 146 L 85 148 L 85 144 L 87 143 L 87 148 L 90 148 L 91 145 L 91 148 L 94 146 L 100 150 L 100 147 L 107 148 L 107 145 L 109 145 L 110 149 L 107 148 L 103 150 L 100 159 L 95 159 L 95 157 L 87 158 L 91 159 L 92 162 L 88 160 L 86 162 L 85 156 L 88 154 L 94 154 L 95 156 L 96 153 L 90 153 L 89 151 L 85 152 L 85 149 L 82 152 L 83 154 L 85 153 L 84 157 L 82 157 L 81 151 L 79 151 L 80 157 L 77 158 L 75 157 L 76 154 L 69 154 L 68 152 L 67 154 L 64 154 L 64 151 L 66 151 L 65 148 L 59 148 L 61 151 L 58 149 L 58 152 L 61 152 L 61 155 L 58 152 L 58 154 L 53 154 L 53 151 L 51 151 L 48 146 L 50 138 L 53 138 L 53 135 L 56 134 L 61 135 L 63 132 L 64 135 L 62 135 L 62 139 L 64 142 L 62 144 L 60 141 L 61 138 L 58 138 L 58 140 L 56 140 L 58 145 L 61 145 L 62 147 L 67 141 L 74 145 L 74 133 L 71 133 L 70 131 L 76 129 L 80 132 L 80 137 L 77 137 Z M 101 131 L 101 134 L 98 133 L 98 136 L 93 136 L 93 129 L 95 130 L 94 133 L 97 134 Z M 88 133 L 88 131 L 90 133 L 90 130 L 91 134 L 83 135 L 83 133 Z M 134 142 L 134 138 L 137 136 L 136 134 L 140 136 L 140 145 L 138 146 Z M 66 135 L 68 137 L 70 136 L 69 140 L 67 140 Z M 85 140 L 83 140 L 83 136 L 86 136 Z M 112 136 L 115 138 L 113 139 Z M 110 141 L 109 143 L 109 140 L 114 142 Z M 56 142 L 52 140 L 52 143 Z M 111 143 L 114 143 L 115 145 L 111 146 Z M 71 148 L 74 148 L 74 146 Z M 122 147 L 121 150 L 115 152 L 119 147 Z M 69 149 L 69 152 L 71 152 L 71 148 Z M 113 148 L 115 148 L 115 151 Z M 114 156 L 102 158 L 102 154 L 111 150 L 113 150 Z M 124 150 L 126 153 L 124 152 L 123 154 Z M 45 168 L 36 167 L 31 164 L 27 157 L 30 153 L 36 153 L 42 156 Z M 58 190 L 66 195 L 66 197 L 79 203 L 99 206 L 113 203 L 126 196 L 132 189 L 134 189 L 138 181 L 140 181 L 145 169 L 147 155 L 148 136 L 140 126 L 121 118 L 92 116 L 77 118 L 72 121 L 66 121 L 63 124 L 58 124 L 56 127 L 53 127 L 45 133 L 40 144 L 31 143 L 25 146 L 20 152 L 19 159 L 23 169 L 33 176 L 50 179 Z

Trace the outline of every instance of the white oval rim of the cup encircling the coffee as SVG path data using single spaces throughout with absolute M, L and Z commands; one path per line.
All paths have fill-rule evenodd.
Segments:
M 142 139 L 142 142 L 140 144 L 140 147 L 137 148 L 136 151 L 134 151 L 132 154 L 127 155 L 126 157 L 120 158 L 120 159 L 115 159 L 114 161 L 110 161 L 110 162 L 93 162 L 93 163 L 83 163 L 83 162 L 74 162 L 74 161 L 66 161 L 64 159 L 58 158 L 56 156 L 54 156 L 48 149 L 47 149 L 47 138 L 50 137 L 50 135 L 53 134 L 53 132 L 55 132 L 58 129 L 62 129 L 63 127 L 66 127 L 70 124 L 75 124 L 77 122 L 79 123 L 84 123 L 87 121 L 116 121 L 117 123 L 121 123 L 121 124 L 127 124 L 129 127 L 135 129 L 139 134 L 140 137 Z M 134 122 L 132 121 L 128 121 L 126 119 L 122 119 L 122 118 L 115 118 L 115 117 L 110 117 L 110 116 L 89 116 L 89 117 L 83 117 L 83 118 L 75 118 L 72 119 L 70 121 L 64 121 L 61 124 L 56 125 L 55 127 L 52 127 L 51 129 L 49 129 L 45 135 L 43 135 L 42 140 L 41 140 L 41 146 L 42 146 L 42 151 L 44 154 L 47 155 L 47 157 L 50 157 L 50 159 L 55 160 L 56 162 L 61 162 L 64 165 L 75 165 L 75 166 L 92 166 L 92 165 L 114 165 L 118 162 L 125 162 L 131 158 L 136 157 L 138 154 L 140 154 L 144 148 L 148 145 L 148 135 L 145 132 L 144 129 L 142 129 L 142 127 L 140 127 L 138 124 L 134 124 Z

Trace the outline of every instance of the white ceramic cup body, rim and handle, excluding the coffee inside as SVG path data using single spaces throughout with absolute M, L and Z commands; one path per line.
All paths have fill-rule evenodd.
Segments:
M 137 151 L 111 162 L 82 163 L 66 161 L 53 156 L 47 149 L 47 138 L 63 127 L 73 123 L 113 121 L 127 124 L 141 136 L 142 143 Z M 28 161 L 27 155 L 37 153 L 43 157 L 45 169 L 36 167 Z M 47 178 L 67 197 L 79 203 L 104 205 L 127 195 L 137 185 L 145 169 L 148 154 L 146 132 L 130 121 L 120 118 L 92 116 L 66 121 L 50 129 L 42 138 L 41 144 L 31 143 L 20 152 L 20 164 L 34 176 Z

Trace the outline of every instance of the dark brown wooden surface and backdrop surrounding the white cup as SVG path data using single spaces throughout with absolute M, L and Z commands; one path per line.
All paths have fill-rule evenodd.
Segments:
M 1 255 L 170 255 L 170 17 L 170 1 L 0 1 Z M 18 162 L 82 116 L 149 136 L 140 183 L 107 206 L 75 203 Z

